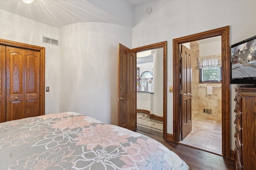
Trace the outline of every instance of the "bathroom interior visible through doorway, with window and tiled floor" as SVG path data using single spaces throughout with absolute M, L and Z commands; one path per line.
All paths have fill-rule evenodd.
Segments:
M 185 136 L 181 133 L 179 143 L 222 155 L 221 36 L 192 41 L 182 47 L 190 55 L 187 63 L 191 70 L 191 92 L 188 95 L 192 97 L 185 103 L 191 103 L 191 130 L 185 131 Z M 206 65 L 205 61 L 214 63 Z

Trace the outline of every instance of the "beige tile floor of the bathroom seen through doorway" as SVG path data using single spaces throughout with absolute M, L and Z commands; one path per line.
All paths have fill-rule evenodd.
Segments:
M 221 117 L 192 114 L 192 131 L 180 143 L 222 155 Z

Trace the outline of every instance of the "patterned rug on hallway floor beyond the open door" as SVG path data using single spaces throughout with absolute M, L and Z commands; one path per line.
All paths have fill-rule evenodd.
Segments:
M 137 113 L 137 130 L 163 137 L 163 121 L 150 118 L 146 113 Z

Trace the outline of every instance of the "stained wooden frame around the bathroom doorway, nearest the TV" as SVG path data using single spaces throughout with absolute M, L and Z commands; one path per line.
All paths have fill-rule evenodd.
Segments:
M 179 141 L 180 136 L 180 92 L 179 92 L 179 49 L 180 44 L 221 36 L 222 54 L 222 156 L 230 158 L 230 26 L 196 33 L 185 37 L 173 39 L 173 140 Z

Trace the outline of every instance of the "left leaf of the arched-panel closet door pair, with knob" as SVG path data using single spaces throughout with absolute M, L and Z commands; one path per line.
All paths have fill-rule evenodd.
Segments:
M 6 46 L 6 121 L 25 115 L 25 50 Z

